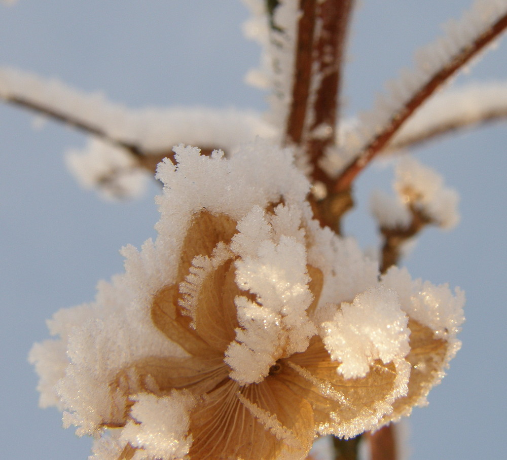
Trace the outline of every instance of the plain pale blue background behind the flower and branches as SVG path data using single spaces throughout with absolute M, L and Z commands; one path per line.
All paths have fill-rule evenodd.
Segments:
M 382 82 L 410 63 L 412 51 L 439 32 L 465 0 L 362 2 L 346 73 L 347 113 L 368 108 Z M 132 107 L 207 104 L 265 109 L 242 83 L 259 50 L 243 39 L 246 9 L 236 0 L 20 0 L 0 9 L 0 65 L 13 65 L 87 91 L 102 90 Z M 506 79 L 507 43 L 460 78 Z M 118 249 L 154 236 L 152 185 L 140 201 L 111 204 L 86 193 L 62 162 L 84 137 L 58 124 L 31 128 L 25 111 L 0 105 L 0 457 L 79 460 L 90 440 L 60 428 L 55 409 L 37 407 L 37 377 L 26 361 L 33 341 L 48 337 L 57 309 L 92 300 L 95 284 L 122 271 Z M 461 194 L 462 221 L 452 233 L 429 229 L 406 261 L 414 277 L 448 281 L 467 293 L 463 349 L 449 375 L 411 417 L 414 460 L 500 459 L 505 435 L 505 125 L 431 144 L 419 158 Z M 371 168 L 365 191 L 390 180 Z M 364 246 L 373 223 L 352 217 L 347 232 Z

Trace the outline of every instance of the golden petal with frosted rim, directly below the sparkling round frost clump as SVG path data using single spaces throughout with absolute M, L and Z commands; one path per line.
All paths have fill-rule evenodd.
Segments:
M 370 429 L 388 410 L 384 403 L 395 391 L 396 371 L 378 360 L 366 377 L 345 379 L 336 371 L 339 364 L 314 336 L 305 352 L 282 360 L 279 378 L 311 404 L 320 434 L 350 437 Z

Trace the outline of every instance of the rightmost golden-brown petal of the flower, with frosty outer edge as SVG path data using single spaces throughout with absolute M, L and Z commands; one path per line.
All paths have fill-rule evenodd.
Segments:
M 434 337 L 429 327 L 413 319 L 409 319 L 408 327 L 410 353 L 406 359 L 412 367 L 409 391 L 407 396 L 394 402 L 394 411 L 383 419 L 385 422 L 408 415 L 412 407 L 423 403 L 429 390 L 441 378 L 445 367 L 449 343 L 442 338 Z

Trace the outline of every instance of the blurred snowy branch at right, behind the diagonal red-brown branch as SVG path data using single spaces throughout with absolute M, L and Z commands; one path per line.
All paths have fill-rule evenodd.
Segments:
M 387 146 L 401 149 L 507 120 L 507 82 L 474 84 L 439 93 L 414 113 Z

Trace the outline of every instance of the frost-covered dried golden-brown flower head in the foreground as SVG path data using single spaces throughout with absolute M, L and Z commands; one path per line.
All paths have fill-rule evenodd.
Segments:
M 312 219 L 289 150 L 175 148 L 158 237 L 36 345 L 41 403 L 93 458 L 304 458 L 410 412 L 459 348 L 463 296 Z

